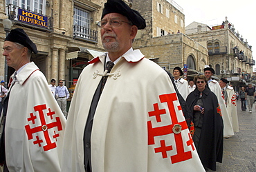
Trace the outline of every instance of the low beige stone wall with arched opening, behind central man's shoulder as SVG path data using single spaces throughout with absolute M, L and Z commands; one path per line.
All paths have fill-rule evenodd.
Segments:
M 159 36 L 146 41 L 136 39 L 134 48 L 140 49 L 146 58 L 158 58 L 157 63 L 170 67 L 170 71 L 176 66 L 183 67 L 190 55 L 194 57 L 197 70 L 208 63 L 208 50 L 184 34 Z

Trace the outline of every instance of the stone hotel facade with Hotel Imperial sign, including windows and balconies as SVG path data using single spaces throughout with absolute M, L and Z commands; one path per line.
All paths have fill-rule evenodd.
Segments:
M 9 18 L 12 29 L 23 28 L 37 45 L 39 53 L 31 61 L 48 81 L 64 79 L 70 87 L 87 62 L 104 52 L 97 25 L 104 0 L 0 0 L 0 4 L 0 46 L 6 37 L 3 20 Z M 3 79 L 4 56 L 0 63 Z M 12 72 L 8 67 L 8 76 Z

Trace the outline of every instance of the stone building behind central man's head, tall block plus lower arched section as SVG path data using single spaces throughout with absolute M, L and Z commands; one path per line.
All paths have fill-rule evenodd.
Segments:
M 188 65 L 191 73 L 203 70 L 209 63 L 208 49 L 184 34 L 185 16 L 178 4 L 171 0 L 133 0 L 132 3 L 132 8 L 147 22 L 147 28 L 140 30 L 136 37 L 135 49 L 171 73 L 174 67 L 184 65 Z

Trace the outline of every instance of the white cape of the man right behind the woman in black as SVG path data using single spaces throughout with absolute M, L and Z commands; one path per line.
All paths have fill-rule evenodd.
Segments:
M 224 125 L 224 129 L 223 129 L 224 138 L 234 136 L 232 122 L 228 115 L 228 110 L 225 104 L 225 100 L 223 99 L 223 96 L 222 96 L 221 86 L 219 86 L 219 83 L 217 80 L 211 80 L 210 83 L 208 83 L 208 85 L 210 87 L 210 91 L 214 92 L 214 94 L 217 96 L 219 106 L 221 107 L 221 114 L 222 114 L 223 125 Z

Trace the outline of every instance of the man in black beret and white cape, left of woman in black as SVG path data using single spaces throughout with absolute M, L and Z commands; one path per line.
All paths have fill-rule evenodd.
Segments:
M 190 94 L 190 91 L 188 90 L 188 81 L 181 78 L 181 76 L 183 76 L 181 67 L 179 67 L 179 66 L 174 67 L 173 76 L 174 76 L 174 83 L 175 83 L 177 89 L 179 90 L 181 96 L 185 100 L 187 98 L 188 94 Z

